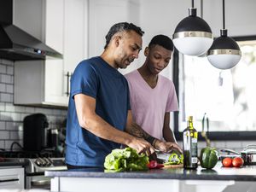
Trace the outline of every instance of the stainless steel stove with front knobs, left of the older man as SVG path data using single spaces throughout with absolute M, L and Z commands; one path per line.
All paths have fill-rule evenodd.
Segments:
M 5 163 L 9 161 L 9 167 L 15 166 L 15 162 L 18 162 L 17 165 L 22 167 L 23 170 L 25 169 L 22 176 L 22 180 L 25 181 L 25 189 L 50 189 L 50 178 L 44 177 L 44 172 L 50 170 L 67 170 L 64 158 L 58 157 L 53 151 L 41 151 L 38 153 L 29 151 L 3 151 L 0 152 L 0 157 L 3 162 L 6 161 Z M 2 164 L 4 164 L 3 162 Z M 6 180 L 8 178 L 4 179 Z M 10 182 L 20 182 L 22 180 Z

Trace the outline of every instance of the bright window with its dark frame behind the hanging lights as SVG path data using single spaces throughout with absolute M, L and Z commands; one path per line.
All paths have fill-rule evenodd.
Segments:
M 235 39 L 241 61 L 230 70 L 212 67 L 206 56 L 174 54 L 178 56 L 173 74 L 180 108 L 174 119 L 176 137 L 193 115 L 197 131 L 202 131 L 203 117 L 209 119 L 213 140 L 256 138 L 256 37 Z

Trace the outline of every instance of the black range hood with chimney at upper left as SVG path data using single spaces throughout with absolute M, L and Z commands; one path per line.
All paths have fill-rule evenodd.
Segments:
M 0 1 L 0 58 L 12 61 L 45 60 L 62 55 L 38 38 L 13 25 L 13 0 Z

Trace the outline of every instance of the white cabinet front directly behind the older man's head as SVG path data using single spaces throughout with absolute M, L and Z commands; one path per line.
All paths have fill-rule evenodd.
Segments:
M 89 0 L 89 57 L 101 55 L 109 28 L 125 21 L 139 25 L 138 1 Z

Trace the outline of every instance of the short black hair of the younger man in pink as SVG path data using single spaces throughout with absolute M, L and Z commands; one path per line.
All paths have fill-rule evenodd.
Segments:
M 173 50 L 173 43 L 172 39 L 168 38 L 166 35 L 156 35 L 154 38 L 151 39 L 148 47 L 150 48 L 152 45 L 160 45 L 168 50 Z

